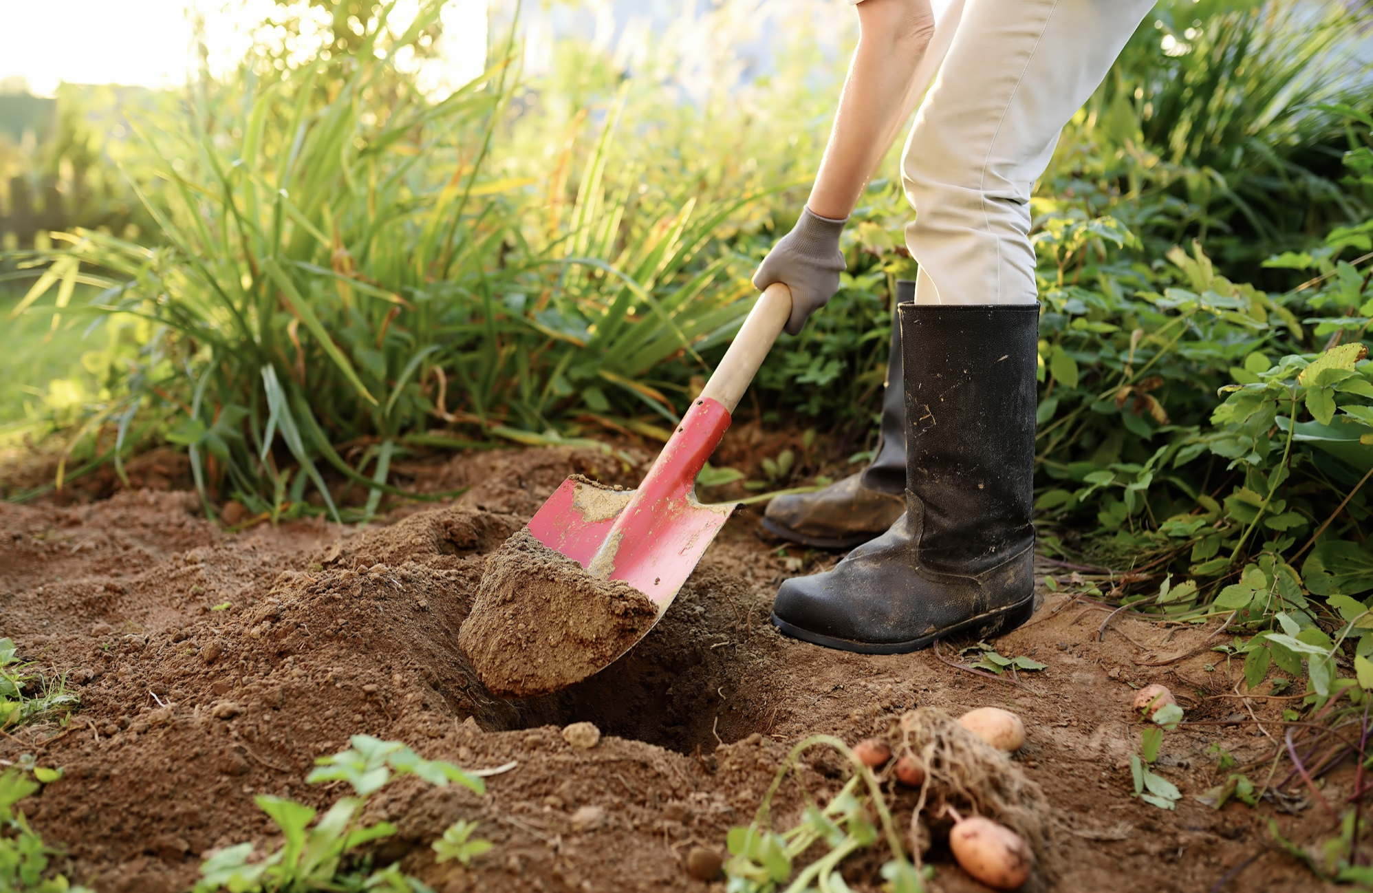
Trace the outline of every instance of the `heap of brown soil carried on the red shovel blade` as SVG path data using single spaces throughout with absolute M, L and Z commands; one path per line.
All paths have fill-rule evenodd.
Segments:
M 582 681 L 656 618 L 647 595 L 593 577 L 526 528 L 487 561 L 457 644 L 487 691 L 527 698 Z

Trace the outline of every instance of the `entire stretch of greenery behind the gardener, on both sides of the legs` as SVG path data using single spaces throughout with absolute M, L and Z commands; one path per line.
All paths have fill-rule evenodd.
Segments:
M 89 196 L 0 269 L 0 437 L 59 452 L 48 486 L 172 444 L 210 512 L 360 519 L 416 451 L 656 449 L 802 207 L 851 14 L 798 19 L 765 74 L 725 38 L 757 3 L 560 38 L 537 71 L 496 34 L 487 73 L 437 98 L 405 60 L 439 5 L 398 30 L 335 4 L 327 55 L 279 21 L 232 77 L 124 103 L 128 139 L 65 92 L 58 137 L 7 150 Z M 1247 562 L 1297 598 L 1373 589 L 1370 21 L 1163 0 L 1039 183 L 1042 540 L 1189 574 L 1149 596 L 1167 610 L 1204 615 Z M 909 213 L 870 185 L 843 290 L 740 409 L 828 431 L 840 468 L 876 440 Z M 811 442 L 769 482 L 832 474 Z

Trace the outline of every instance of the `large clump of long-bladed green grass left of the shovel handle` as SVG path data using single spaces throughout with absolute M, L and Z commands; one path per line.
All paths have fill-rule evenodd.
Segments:
M 394 67 L 441 5 L 386 45 L 379 26 L 342 81 L 323 63 L 272 81 L 244 69 L 194 89 L 181 117 L 135 122 L 157 159 L 158 179 L 133 185 L 158 240 L 63 235 L 65 250 L 23 261 L 48 264 L 11 312 L 51 289 L 66 305 L 78 280 L 104 289 L 62 308 L 121 334 L 88 354 L 104 398 L 59 425 L 69 453 L 107 452 L 122 475 L 130 451 L 170 441 L 207 511 L 232 496 L 273 519 L 314 511 L 308 490 L 341 518 L 330 473 L 369 490 L 356 518 L 402 492 L 387 484 L 395 456 L 470 442 L 430 426 L 563 442 L 577 426 L 676 423 L 685 375 L 652 371 L 704 370 L 699 350 L 746 312 L 747 287 L 703 249 L 747 196 L 611 191 L 611 114 L 575 201 L 531 239 L 530 184 L 486 172 L 514 59 L 442 102 Z

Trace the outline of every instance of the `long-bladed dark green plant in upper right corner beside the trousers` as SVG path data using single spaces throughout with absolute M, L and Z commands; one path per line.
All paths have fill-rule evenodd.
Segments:
M 1233 278 L 1332 225 L 1368 188 L 1341 187 L 1373 111 L 1358 4 L 1163 0 L 1068 126 L 1045 194 L 1114 213 L 1149 256 L 1193 238 Z M 1352 107 L 1352 109 L 1351 109 Z

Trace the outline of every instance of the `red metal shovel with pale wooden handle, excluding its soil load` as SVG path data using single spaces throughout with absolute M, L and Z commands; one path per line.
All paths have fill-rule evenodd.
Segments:
M 529 522 L 530 533 L 593 577 L 622 580 L 647 595 L 658 622 L 735 510 L 733 503 L 696 501 L 696 475 L 789 315 L 791 290 L 769 286 L 638 489 L 570 477 Z

